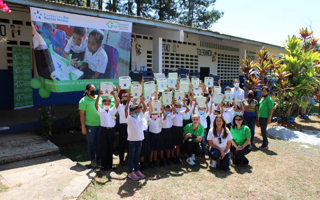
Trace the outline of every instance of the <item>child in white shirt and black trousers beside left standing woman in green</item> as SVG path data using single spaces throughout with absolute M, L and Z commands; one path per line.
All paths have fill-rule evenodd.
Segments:
M 110 92 L 113 97 L 116 97 L 114 91 Z M 118 111 L 119 102 L 115 101 L 115 106 L 110 108 L 111 99 L 105 97 L 102 99 L 102 108 L 98 106 L 100 96 L 103 95 L 102 91 L 99 91 L 98 98 L 94 104 L 96 111 L 100 116 L 101 132 L 100 132 L 100 147 L 101 147 L 101 167 L 103 171 L 107 171 L 108 168 L 116 170 L 113 166 L 113 142 L 115 137 L 115 125 L 116 125 L 116 112 Z

